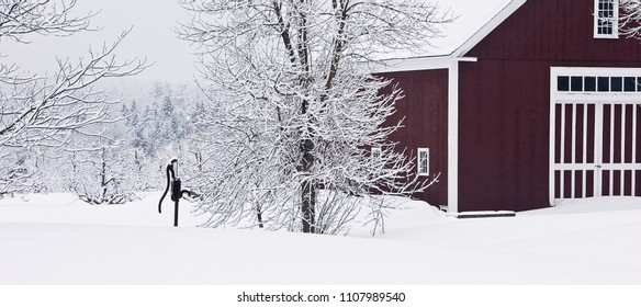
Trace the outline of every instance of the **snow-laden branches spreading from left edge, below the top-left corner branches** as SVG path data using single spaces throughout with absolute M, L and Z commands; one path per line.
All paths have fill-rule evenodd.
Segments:
M 58 60 L 58 70 L 47 76 L 16 75 L 14 65 L 2 65 L 0 72 L 0 145 L 60 146 L 67 143 L 69 132 L 99 123 L 112 122 L 113 104 L 94 88 L 105 78 L 138 73 L 145 68 L 139 60 L 117 61 L 113 55 L 117 44 L 104 45 L 101 50 L 89 50 L 88 59 L 71 62 Z

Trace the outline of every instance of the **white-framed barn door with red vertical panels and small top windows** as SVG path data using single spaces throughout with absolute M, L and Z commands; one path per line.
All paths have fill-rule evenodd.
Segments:
M 641 69 L 551 68 L 550 203 L 641 196 Z

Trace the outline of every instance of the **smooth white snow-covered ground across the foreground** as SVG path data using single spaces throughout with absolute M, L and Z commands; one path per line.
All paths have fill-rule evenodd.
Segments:
M 158 198 L 0 200 L 0 284 L 641 284 L 641 198 L 480 219 L 407 202 L 376 237 L 196 228 L 187 203 L 175 228 Z

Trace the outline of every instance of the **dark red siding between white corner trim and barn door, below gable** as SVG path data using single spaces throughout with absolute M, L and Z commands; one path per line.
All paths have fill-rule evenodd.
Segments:
M 548 203 L 549 69 L 461 64 L 459 211 L 524 211 Z M 505 90 L 504 90 L 505 89 Z

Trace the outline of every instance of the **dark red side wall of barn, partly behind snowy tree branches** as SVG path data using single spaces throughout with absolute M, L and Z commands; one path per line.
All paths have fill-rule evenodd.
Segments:
M 400 143 L 398 150 L 406 148 L 406 152 L 416 158 L 417 148 L 429 148 L 430 178 L 440 173 L 437 183 L 414 196 L 431 205 L 445 205 L 448 189 L 448 71 L 439 69 L 383 76 L 398 83 L 405 95 L 396 104 L 396 114 L 390 118 L 390 123 L 405 118 L 404 128 L 392 136 Z

